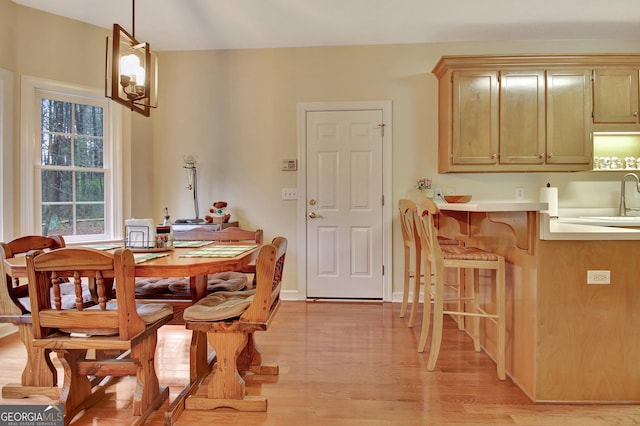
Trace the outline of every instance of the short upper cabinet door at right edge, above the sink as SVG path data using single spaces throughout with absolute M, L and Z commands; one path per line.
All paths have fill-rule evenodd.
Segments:
M 596 69 L 593 73 L 593 122 L 638 122 L 638 70 Z

